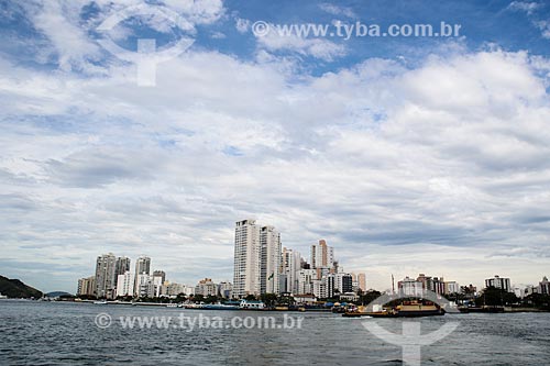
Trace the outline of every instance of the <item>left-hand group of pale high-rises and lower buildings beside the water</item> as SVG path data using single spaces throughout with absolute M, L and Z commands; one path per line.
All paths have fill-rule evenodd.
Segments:
M 215 284 L 210 278 L 201 279 L 190 287 L 166 280 L 164 270 L 151 270 L 151 257 L 141 256 L 131 270 L 128 257 L 103 254 L 97 257 L 96 274 L 78 280 L 77 296 L 92 296 L 101 299 L 119 297 L 175 298 L 178 295 L 219 296 L 231 298 L 232 285 L 228 281 Z

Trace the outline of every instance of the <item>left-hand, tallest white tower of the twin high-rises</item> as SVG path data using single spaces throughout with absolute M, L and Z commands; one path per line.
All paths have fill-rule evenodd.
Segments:
M 233 295 L 260 295 L 261 290 L 260 226 L 255 220 L 235 223 Z

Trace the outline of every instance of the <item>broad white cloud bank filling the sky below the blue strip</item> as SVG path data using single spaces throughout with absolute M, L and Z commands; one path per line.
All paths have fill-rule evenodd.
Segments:
M 465 284 L 546 270 L 548 59 L 494 49 L 312 77 L 261 52 L 190 51 L 155 88 L 131 66 L 1 62 L 2 267 L 32 263 L 50 290 L 41 275 L 74 264 L 51 279 L 70 290 L 99 253 L 145 253 L 172 280 L 227 279 L 233 221 L 256 217 L 304 255 L 326 237 L 378 288 L 392 268 Z

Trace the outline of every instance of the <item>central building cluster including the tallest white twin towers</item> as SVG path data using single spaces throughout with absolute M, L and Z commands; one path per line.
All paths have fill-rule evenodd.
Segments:
M 283 247 L 280 233 L 274 226 L 251 219 L 238 221 L 233 297 L 275 293 L 353 300 L 360 290 L 366 290 L 365 274 L 345 273 L 336 259 L 334 248 L 324 240 L 311 245 L 309 259 Z

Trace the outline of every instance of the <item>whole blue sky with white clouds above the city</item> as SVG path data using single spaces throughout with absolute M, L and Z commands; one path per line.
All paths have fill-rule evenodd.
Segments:
M 112 252 L 232 280 L 249 218 L 378 290 L 550 275 L 546 1 L 0 0 L 0 36 L 3 276 L 75 292 Z

